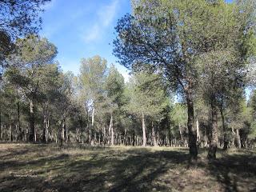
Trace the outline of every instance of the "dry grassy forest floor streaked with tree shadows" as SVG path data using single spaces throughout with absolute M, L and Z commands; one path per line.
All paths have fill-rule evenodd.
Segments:
M 256 151 L 0 144 L 0 191 L 256 191 Z

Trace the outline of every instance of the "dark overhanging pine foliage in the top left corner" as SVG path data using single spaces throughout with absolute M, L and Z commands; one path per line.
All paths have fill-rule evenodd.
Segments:
M 42 23 L 39 14 L 46 2 L 50 0 L 0 1 L 0 70 L 8 64 L 5 59 L 14 51 L 14 40 L 38 32 Z

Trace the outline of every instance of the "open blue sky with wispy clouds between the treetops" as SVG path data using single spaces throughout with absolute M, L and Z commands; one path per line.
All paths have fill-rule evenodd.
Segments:
M 114 63 L 128 78 L 126 68 L 112 55 L 114 26 L 130 13 L 130 0 L 52 0 L 42 14 L 42 37 L 58 47 L 57 60 L 63 71 L 78 74 L 82 58 L 98 54 Z

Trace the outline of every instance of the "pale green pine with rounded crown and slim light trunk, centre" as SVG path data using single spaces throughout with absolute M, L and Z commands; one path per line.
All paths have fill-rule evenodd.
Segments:
M 146 116 L 154 117 L 166 107 L 166 92 L 158 74 L 134 74 L 129 85 L 127 110 L 142 119 L 143 144 L 146 146 Z

